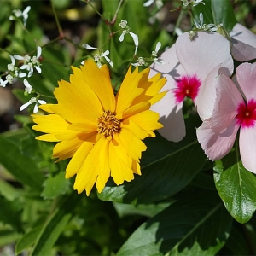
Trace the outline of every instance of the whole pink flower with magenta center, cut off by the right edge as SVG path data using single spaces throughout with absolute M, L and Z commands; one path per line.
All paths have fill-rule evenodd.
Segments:
M 208 158 L 218 160 L 230 152 L 240 128 L 241 161 L 256 173 L 256 63 L 242 63 L 234 82 L 219 75 L 212 118 L 197 130 L 197 137 Z

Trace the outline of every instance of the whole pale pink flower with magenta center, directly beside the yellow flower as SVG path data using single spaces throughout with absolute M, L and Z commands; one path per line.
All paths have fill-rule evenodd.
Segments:
M 151 74 L 160 72 L 167 82 L 162 90 L 166 96 L 152 109 L 160 113 L 159 130 L 167 140 L 178 142 L 185 137 L 183 101 L 189 96 L 202 120 L 211 117 L 215 99 L 215 81 L 218 70 L 230 76 L 233 60 L 230 42 L 218 33 L 197 32 L 194 40 L 189 32 L 177 38 L 177 43 L 167 49 L 160 59 L 166 65 L 153 65 Z

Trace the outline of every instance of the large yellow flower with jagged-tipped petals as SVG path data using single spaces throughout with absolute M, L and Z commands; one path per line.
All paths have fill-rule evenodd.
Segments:
M 148 79 L 149 68 L 125 75 L 114 96 L 108 67 L 92 60 L 72 67 L 70 82 L 61 80 L 55 89 L 57 104 L 40 106 L 48 115 L 33 115 L 32 128 L 46 134 L 38 140 L 58 142 L 53 150 L 57 161 L 71 158 L 66 178 L 76 174 L 74 189 L 86 195 L 96 183 L 99 193 L 108 178 L 117 185 L 141 175 L 139 160 L 145 137 L 160 129 L 159 114 L 150 110 L 165 92 L 166 79 L 160 73 Z

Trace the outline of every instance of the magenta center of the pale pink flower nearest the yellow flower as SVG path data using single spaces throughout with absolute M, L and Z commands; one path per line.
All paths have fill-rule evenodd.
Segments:
M 186 96 L 189 96 L 193 101 L 198 95 L 201 80 L 196 75 L 183 76 L 176 81 L 177 88 L 174 90 L 176 103 L 183 102 Z

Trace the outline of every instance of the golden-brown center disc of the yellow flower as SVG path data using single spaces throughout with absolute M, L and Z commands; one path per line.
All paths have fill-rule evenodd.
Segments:
M 97 132 L 102 133 L 106 138 L 111 138 L 114 133 L 118 133 L 121 130 L 120 124 L 121 121 L 116 118 L 115 113 L 109 110 L 104 111 L 103 115 L 98 118 Z

